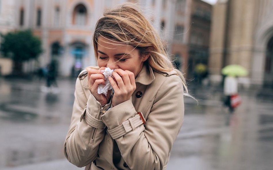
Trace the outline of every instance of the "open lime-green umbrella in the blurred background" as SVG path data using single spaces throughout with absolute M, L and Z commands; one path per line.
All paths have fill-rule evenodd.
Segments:
M 248 71 L 240 65 L 227 65 L 222 69 L 222 74 L 227 76 L 247 76 Z

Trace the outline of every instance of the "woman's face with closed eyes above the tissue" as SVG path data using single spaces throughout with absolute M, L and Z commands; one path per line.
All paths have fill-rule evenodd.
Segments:
M 139 50 L 133 46 L 112 42 L 104 37 L 98 38 L 97 55 L 99 67 L 128 70 L 134 73 L 135 78 L 141 71 L 143 62 L 149 57 L 140 57 Z

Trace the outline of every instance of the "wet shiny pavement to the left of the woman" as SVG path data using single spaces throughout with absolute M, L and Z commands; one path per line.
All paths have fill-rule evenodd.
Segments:
M 0 169 L 65 158 L 75 83 L 60 81 L 58 94 L 44 84 L 0 79 Z

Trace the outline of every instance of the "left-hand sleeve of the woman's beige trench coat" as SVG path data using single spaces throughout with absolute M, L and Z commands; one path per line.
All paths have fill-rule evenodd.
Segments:
M 91 93 L 89 98 L 86 98 L 79 78 L 76 81 L 74 96 L 64 152 L 69 162 L 77 167 L 84 167 L 96 158 L 99 144 L 105 135 L 105 125 L 98 119 L 100 103 Z

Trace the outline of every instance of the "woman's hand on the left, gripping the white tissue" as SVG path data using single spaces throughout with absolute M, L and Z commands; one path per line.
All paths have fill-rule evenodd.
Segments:
M 96 69 L 87 69 L 88 71 L 88 88 L 95 99 L 101 103 L 101 105 L 107 104 L 111 91 L 108 91 L 107 96 L 104 94 L 98 94 L 98 85 L 105 85 L 104 75 L 101 70 L 105 70 L 106 67 L 101 67 L 99 70 Z

